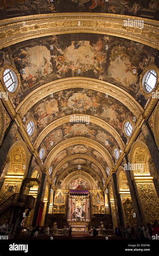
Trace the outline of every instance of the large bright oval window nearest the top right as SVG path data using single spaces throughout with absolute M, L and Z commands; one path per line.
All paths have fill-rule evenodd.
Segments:
M 157 74 L 154 70 L 149 70 L 143 77 L 144 89 L 147 93 L 152 92 L 156 85 Z

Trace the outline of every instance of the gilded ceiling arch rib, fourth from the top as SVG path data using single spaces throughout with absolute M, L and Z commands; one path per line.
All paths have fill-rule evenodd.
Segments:
M 113 166 L 113 161 L 112 161 L 111 155 L 100 143 L 98 143 L 97 141 L 95 141 L 93 139 L 89 139 L 89 138 L 75 137 L 75 138 L 66 139 L 66 140 L 60 142 L 57 146 L 55 146 L 48 154 L 47 159 L 44 163 L 44 167 L 49 168 L 54 157 L 59 152 L 64 150 L 65 148 L 72 146 L 72 145 L 79 145 L 79 144 L 87 145 L 87 146 L 90 146 L 91 148 L 97 150 L 103 156 L 103 158 L 106 160 L 107 164 L 110 167 Z

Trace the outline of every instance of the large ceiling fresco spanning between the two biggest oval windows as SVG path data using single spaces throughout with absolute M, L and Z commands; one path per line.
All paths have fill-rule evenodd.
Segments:
M 111 83 L 133 96 L 144 108 L 147 100 L 139 79 L 159 51 L 128 39 L 102 34 L 62 34 L 26 40 L 0 51 L 0 67 L 13 64 L 21 78 L 16 107 L 41 85 L 65 77 L 90 77 Z

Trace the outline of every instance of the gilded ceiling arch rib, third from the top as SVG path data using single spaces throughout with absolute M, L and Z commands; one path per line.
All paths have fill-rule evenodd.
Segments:
M 36 139 L 35 143 L 34 143 L 34 148 L 38 149 L 38 147 L 40 146 L 40 143 L 43 141 L 43 139 L 45 138 L 45 136 L 47 136 L 51 131 L 53 131 L 55 128 L 57 128 L 58 126 L 65 124 L 65 123 L 69 123 L 70 121 L 70 116 L 65 116 L 62 118 L 59 118 L 57 120 L 55 120 L 54 122 L 52 122 L 51 124 L 49 124 L 38 136 L 38 138 Z M 86 116 L 84 114 L 76 114 L 76 116 Z M 109 125 L 108 123 L 106 123 L 105 121 L 101 120 L 100 118 L 97 117 L 93 117 L 90 115 L 89 116 L 89 120 L 90 123 L 99 125 L 100 127 L 102 127 L 104 130 L 108 131 L 113 137 L 114 139 L 117 141 L 119 147 L 121 150 L 124 149 L 124 143 L 121 140 L 119 134 L 116 132 L 116 130 Z

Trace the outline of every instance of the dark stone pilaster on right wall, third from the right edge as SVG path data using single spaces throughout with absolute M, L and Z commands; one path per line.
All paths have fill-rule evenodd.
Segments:
M 120 226 L 124 226 L 124 218 L 122 214 L 122 205 L 120 201 L 120 196 L 118 194 L 118 189 L 117 189 L 117 178 L 116 178 L 116 173 L 112 174 L 112 188 L 113 188 L 113 195 L 114 195 L 114 203 L 116 204 L 115 209 L 117 210 L 116 213 L 116 218 L 117 221 L 119 222 L 118 224 Z

